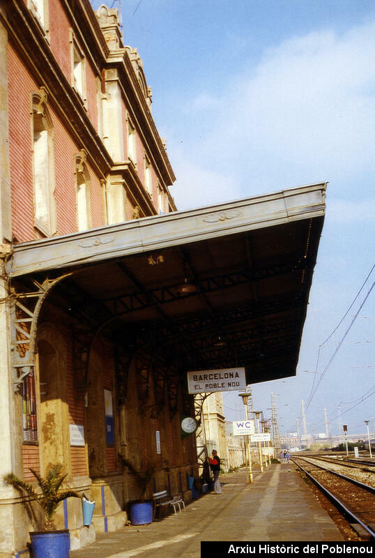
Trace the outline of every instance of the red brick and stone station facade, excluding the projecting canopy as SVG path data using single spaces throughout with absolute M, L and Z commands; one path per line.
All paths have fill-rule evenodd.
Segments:
M 176 210 L 151 88 L 137 50 L 122 43 L 117 10 L 95 13 L 88 0 L 6 0 L 0 44 L 3 268 L 19 243 Z M 1 474 L 32 481 L 30 468 L 44 474 L 49 463 L 63 463 L 68 485 L 96 502 L 90 529 L 83 529 L 80 502 L 69 499 L 59 510 L 57 525 L 70 529 L 77 548 L 95 531 L 124 525 L 125 504 L 137 498 L 121 454 L 139 468 L 155 462 L 151 490 L 169 483 L 181 492 L 195 461 L 194 437 L 181 438 L 177 407 L 172 413 L 160 402 L 155 411 L 153 378 L 142 392 L 134 370 L 124 412 L 113 338 L 99 332 L 86 361 L 82 339 L 93 321 L 85 297 L 76 304 L 66 292 L 66 303 L 47 304 L 30 333 L 27 303 L 14 308 L 16 295 L 4 276 L 1 282 Z M 35 366 L 13 367 L 12 375 L 10 353 L 22 359 L 30 335 Z M 30 518 L 19 495 L 3 486 L 0 499 L 7 526 L 0 555 L 13 556 L 40 527 L 38 508 Z

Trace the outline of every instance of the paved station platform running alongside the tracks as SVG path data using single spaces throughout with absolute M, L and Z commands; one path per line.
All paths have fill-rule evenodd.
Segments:
M 222 495 L 192 500 L 186 511 L 138 527 L 100 534 L 70 558 L 197 558 L 201 541 L 343 541 L 292 463 L 220 476 Z

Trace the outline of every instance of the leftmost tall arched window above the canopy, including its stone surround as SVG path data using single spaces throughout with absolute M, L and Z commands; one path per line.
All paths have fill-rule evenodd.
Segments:
M 43 87 L 32 98 L 34 225 L 43 236 L 56 232 L 52 119 Z

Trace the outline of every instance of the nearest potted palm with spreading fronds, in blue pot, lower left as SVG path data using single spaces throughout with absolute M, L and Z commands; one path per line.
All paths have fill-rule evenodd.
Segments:
M 26 492 L 35 499 L 44 512 L 44 522 L 41 531 L 31 531 L 31 548 L 33 558 L 68 558 L 70 549 L 70 536 L 68 529 L 56 529 L 54 515 L 60 502 L 69 497 L 81 498 L 75 490 L 63 490 L 61 485 L 66 478 L 63 474 L 63 465 L 49 465 L 45 477 L 35 469 L 29 469 L 38 481 L 40 490 L 36 486 L 23 481 L 13 473 L 3 475 L 3 483 L 13 486 L 20 494 Z

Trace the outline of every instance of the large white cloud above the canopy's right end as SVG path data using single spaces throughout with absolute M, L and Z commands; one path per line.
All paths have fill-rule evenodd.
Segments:
M 186 197 L 200 201 L 221 184 L 226 201 L 327 180 L 331 197 L 369 197 L 373 185 L 363 178 L 375 171 L 374 54 L 375 22 L 342 36 L 316 31 L 199 94 L 182 125 L 199 129 L 201 140 L 192 134 L 178 158 L 170 150 L 176 191 L 182 195 L 180 183 L 188 183 Z

